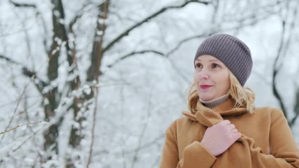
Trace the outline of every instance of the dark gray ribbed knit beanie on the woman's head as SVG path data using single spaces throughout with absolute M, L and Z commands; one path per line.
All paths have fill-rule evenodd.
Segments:
M 195 60 L 202 55 L 214 56 L 223 62 L 244 86 L 252 70 L 249 48 L 237 37 L 229 34 L 214 34 L 198 47 Z

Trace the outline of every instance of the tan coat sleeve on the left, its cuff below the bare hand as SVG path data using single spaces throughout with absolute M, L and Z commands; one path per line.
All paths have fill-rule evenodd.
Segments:
M 210 168 L 216 157 L 210 154 L 199 141 L 193 141 L 183 150 L 179 159 L 176 134 L 176 122 L 165 132 L 165 143 L 162 150 L 159 168 Z

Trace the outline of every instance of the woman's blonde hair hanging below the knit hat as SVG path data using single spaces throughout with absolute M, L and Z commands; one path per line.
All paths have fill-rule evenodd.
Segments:
M 234 109 L 246 108 L 248 113 L 253 113 L 255 108 L 254 91 L 249 87 L 243 87 L 231 71 L 229 71 L 229 79 L 231 86 L 228 94 L 236 102 Z M 189 87 L 188 93 L 188 109 L 192 113 L 195 113 L 197 111 L 196 106 L 199 100 L 199 95 L 197 94 L 197 89 L 195 86 L 196 84 L 193 82 Z

